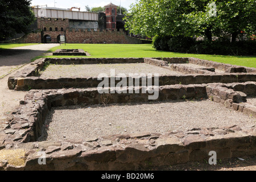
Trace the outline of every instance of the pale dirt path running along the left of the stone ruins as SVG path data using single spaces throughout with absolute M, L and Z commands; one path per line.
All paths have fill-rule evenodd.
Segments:
M 50 48 L 59 46 L 59 44 L 38 44 L 33 46 L 16 47 L 0 55 L 0 125 L 8 115 L 19 105 L 19 101 L 24 99 L 27 92 L 9 90 L 7 81 L 9 76 L 13 75 L 17 68 L 22 69 L 30 63 L 30 60 L 36 56 L 46 53 Z M 11 72 L 11 73 L 10 73 Z

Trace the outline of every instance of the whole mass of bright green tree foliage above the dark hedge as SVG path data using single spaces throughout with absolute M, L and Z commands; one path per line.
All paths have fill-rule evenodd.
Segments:
M 214 6 L 213 6 L 214 5 Z M 127 13 L 126 30 L 153 37 L 255 34 L 255 0 L 139 0 Z M 216 13 L 216 14 L 214 14 Z

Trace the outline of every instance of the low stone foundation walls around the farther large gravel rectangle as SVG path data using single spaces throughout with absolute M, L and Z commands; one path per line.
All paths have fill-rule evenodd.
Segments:
M 234 65 L 216 63 L 206 60 L 199 60 L 194 58 L 46 58 L 39 59 L 30 64 L 30 67 L 17 72 L 14 76 L 9 77 L 8 86 L 9 89 L 15 90 L 28 90 L 28 89 L 59 89 L 59 88 L 93 88 L 101 82 L 97 77 L 51 77 L 51 78 L 39 78 L 38 73 L 43 69 L 46 63 L 52 64 L 114 64 L 114 63 L 147 63 L 155 66 L 159 66 L 166 69 L 172 69 L 168 66 L 168 63 L 187 63 L 187 61 L 192 61 L 195 63 L 205 61 L 210 63 L 210 67 L 217 67 L 218 69 L 225 69 L 228 72 L 225 73 L 215 73 L 202 69 L 195 69 L 193 73 L 186 75 L 164 75 L 159 76 L 159 86 L 162 85 L 173 85 L 173 84 L 208 84 L 214 82 L 222 83 L 232 83 L 232 82 L 245 82 L 245 81 L 256 81 L 256 69 L 242 67 L 243 71 L 248 71 L 249 73 L 229 73 L 230 70 L 240 69 Z M 189 62 L 190 63 L 190 62 Z M 216 65 L 215 65 L 216 64 Z M 184 70 L 180 72 L 186 72 Z M 197 73 L 197 74 L 195 74 Z M 200 74 L 199 74 L 200 73 Z M 141 78 L 139 78 L 141 80 Z M 109 79 L 110 80 L 110 79 Z M 127 78 L 127 80 L 129 80 Z M 152 78 L 154 81 L 154 77 Z M 117 81 L 118 82 L 118 81 Z M 116 82 L 116 84 L 117 84 Z M 129 85 L 129 84 L 127 84 Z

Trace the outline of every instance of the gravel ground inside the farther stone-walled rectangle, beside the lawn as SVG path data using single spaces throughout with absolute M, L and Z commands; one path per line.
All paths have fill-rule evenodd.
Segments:
M 100 73 L 110 76 L 110 69 L 115 69 L 115 74 L 124 73 L 159 73 L 159 75 L 182 75 L 180 72 L 156 67 L 146 63 L 130 64 L 81 64 L 81 65 L 49 65 L 40 77 L 97 77 Z

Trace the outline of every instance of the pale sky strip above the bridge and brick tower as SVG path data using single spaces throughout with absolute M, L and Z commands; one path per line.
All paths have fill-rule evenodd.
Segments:
M 32 0 L 31 6 L 42 6 L 47 5 L 47 7 L 59 7 L 63 9 L 71 9 L 71 7 L 80 7 L 80 11 L 85 11 L 85 6 L 92 7 L 104 7 L 112 2 L 114 5 L 125 7 L 127 10 L 130 9 L 130 5 L 135 3 L 137 0 Z M 55 6 L 54 6 L 55 4 Z M 46 6 L 43 6 L 46 7 Z M 73 9 L 73 11 L 78 11 Z

